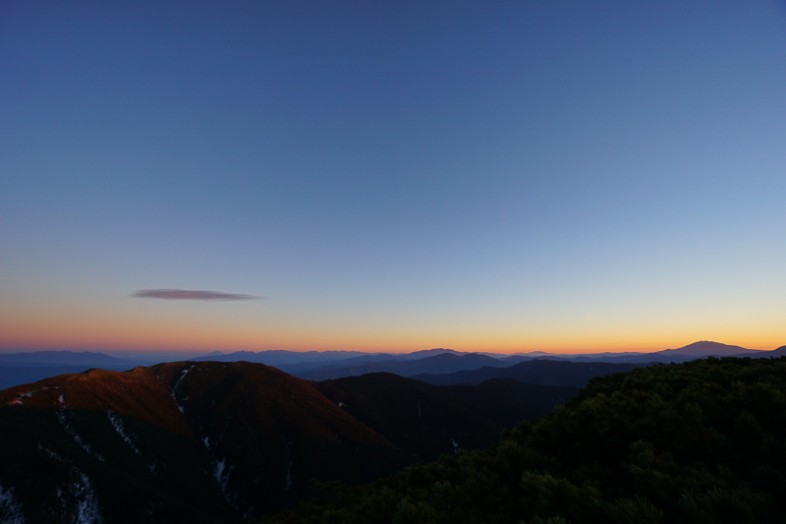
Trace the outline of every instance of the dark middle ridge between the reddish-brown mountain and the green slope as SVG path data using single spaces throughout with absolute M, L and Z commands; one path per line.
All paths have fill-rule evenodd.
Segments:
M 390 373 L 327 380 L 317 387 L 355 419 L 425 460 L 490 447 L 502 428 L 545 415 L 578 393 L 506 380 L 440 387 Z

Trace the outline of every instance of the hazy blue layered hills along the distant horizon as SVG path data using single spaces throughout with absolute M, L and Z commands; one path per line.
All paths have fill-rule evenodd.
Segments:
M 394 373 L 403 377 L 421 377 L 434 383 L 460 384 L 478 383 L 479 377 L 516 378 L 519 370 L 492 372 L 484 370 L 477 377 L 455 375 L 452 379 L 431 379 L 431 375 L 446 375 L 483 368 L 508 368 L 522 362 L 535 360 L 554 360 L 574 363 L 639 364 L 687 362 L 706 357 L 778 357 L 786 354 L 786 346 L 774 351 L 746 349 L 718 342 L 701 341 L 678 349 L 666 349 L 653 353 L 598 353 L 598 354 L 556 354 L 544 352 L 517 353 L 514 355 L 494 353 L 462 353 L 451 349 L 437 348 L 413 353 L 363 353 L 358 351 L 238 351 L 234 353 L 215 352 L 192 360 L 204 362 L 255 362 L 273 366 L 292 375 L 309 380 L 327 380 L 367 373 Z M 169 359 L 158 360 L 165 362 Z M 125 370 L 151 362 L 128 360 L 102 353 L 42 351 L 26 353 L 0 353 L 0 389 L 34 382 L 46 377 L 63 373 L 78 373 L 90 368 Z M 580 367 L 580 366 L 579 366 Z M 566 369 L 579 367 L 567 366 Z M 598 367 L 597 369 L 601 369 Z M 609 368 L 612 369 L 612 368 Z M 622 370 L 623 368 L 619 368 Z M 592 373 L 589 373 L 592 375 Z M 594 376 L 594 375 L 593 375 Z M 461 378 L 464 377 L 464 378 Z M 529 379 L 528 379 L 529 381 Z M 537 383 L 554 385 L 578 385 L 584 381 Z

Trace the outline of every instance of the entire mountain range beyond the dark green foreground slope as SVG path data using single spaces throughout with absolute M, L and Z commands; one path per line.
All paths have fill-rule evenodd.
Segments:
M 448 349 L 330 352 L 324 360 L 316 352 L 268 353 L 242 356 L 321 366 L 303 372 L 314 376 L 379 368 L 399 374 L 315 382 L 212 355 L 226 361 L 90 369 L 2 390 L 0 521 L 254 520 L 309 494 L 335 494 L 325 491 L 331 483 L 362 483 L 462 449 L 489 448 L 505 428 L 551 412 L 596 377 L 680 359 L 758 360 L 784 355 L 786 346 L 756 351 L 698 342 L 646 354 L 644 362 L 618 360 L 642 356 L 630 353 L 589 361 Z M 47 359 L 67 366 L 130 362 L 69 352 L 3 357 L 10 368 L 45 368 Z M 726 361 L 756 360 L 716 362 Z M 764 393 L 751 389 L 749 396 Z

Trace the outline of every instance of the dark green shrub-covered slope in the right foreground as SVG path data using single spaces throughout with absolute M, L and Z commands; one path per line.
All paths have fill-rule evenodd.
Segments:
M 491 451 L 326 487 L 270 523 L 786 522 L 786 359 L 593 380 Z

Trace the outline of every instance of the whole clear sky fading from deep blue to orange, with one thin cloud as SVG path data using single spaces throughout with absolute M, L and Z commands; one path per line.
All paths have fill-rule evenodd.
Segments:
M 0 350 L 786 344 L 786 2 L 11 0 Z

